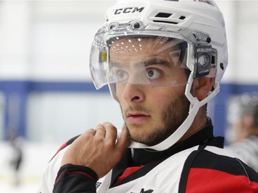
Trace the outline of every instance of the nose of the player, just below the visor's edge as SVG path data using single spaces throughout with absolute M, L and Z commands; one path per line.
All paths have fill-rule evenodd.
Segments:
M 125 88 L 122 93 L 122 98 L 128 103 L 142 102 L 144 100 L 143 86 L 138 84 L 125 84 Z

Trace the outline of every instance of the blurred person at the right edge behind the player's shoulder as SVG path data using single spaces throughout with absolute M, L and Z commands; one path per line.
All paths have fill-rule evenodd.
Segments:
M 244 93 L 237 104 L 239 115 L 230 128 L 233 140 L 226 149 L 258 172 L 258 93 Z

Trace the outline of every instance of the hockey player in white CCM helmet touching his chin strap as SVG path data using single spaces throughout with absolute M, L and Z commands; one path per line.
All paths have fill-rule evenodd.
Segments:
M 94 37 L 90 70 L 125 126 L 105 122 L 67 141 L 41 192 L 258 192 L 257 172 L 223 149 L 206 115 L 227 64 L 213 1 L 118 1 Z

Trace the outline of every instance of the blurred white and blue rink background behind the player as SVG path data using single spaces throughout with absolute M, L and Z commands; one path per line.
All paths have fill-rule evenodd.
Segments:
M 258 1 L 215 1 L 224 13 L 228 69 L 209 105 L 215 135 L 227 128 L 228 102 L 258 91 Z M 0 1 L 0 192 L 36 192 L 59 146 L 99 122 L 122 116 L 107 88 L 89 77 L 89 52 L 105 10 L 115 1 Z M 8 133 L 23 138 L 20 183 L 14 185 Z

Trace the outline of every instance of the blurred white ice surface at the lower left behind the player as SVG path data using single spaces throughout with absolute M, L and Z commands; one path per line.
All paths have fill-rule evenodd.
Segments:
M 56 144 L 23 143 L 23 163 L 19 171 L 20 182 L 14 181 L 14 169 L 10 165 L 12 148 L 9 144 L 0 143 L 0 192 L 1 193 L 28 193 L 39 189 L 41 174 L 58 146 Z

